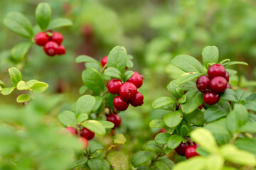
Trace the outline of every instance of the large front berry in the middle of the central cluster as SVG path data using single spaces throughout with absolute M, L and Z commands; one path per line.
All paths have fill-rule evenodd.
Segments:
M 132 101 L 137 96 L 137 87 L 130 82 L 125 82 L 120 86 L 119 95 L 125 101 Z

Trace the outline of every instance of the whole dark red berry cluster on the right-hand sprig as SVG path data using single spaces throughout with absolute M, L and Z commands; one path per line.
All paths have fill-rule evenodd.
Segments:
M 218 103 L 220 95 L 225 89 L 231 89 L 229 74 L 221 64 L 213 64 L 208 68 L 208 76 L 198 77 L 196 86 L 203 94 L 203 102 L 208 105 Z

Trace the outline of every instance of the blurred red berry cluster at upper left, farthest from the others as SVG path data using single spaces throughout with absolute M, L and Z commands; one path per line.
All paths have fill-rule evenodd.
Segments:
M 36 34 L 34 40 L 37 45 L 43 46 L 46 55 L 65 55 L 65 46 L 61 45 L 64 36 L 61 33 L 53 31 L 41 32 Z

